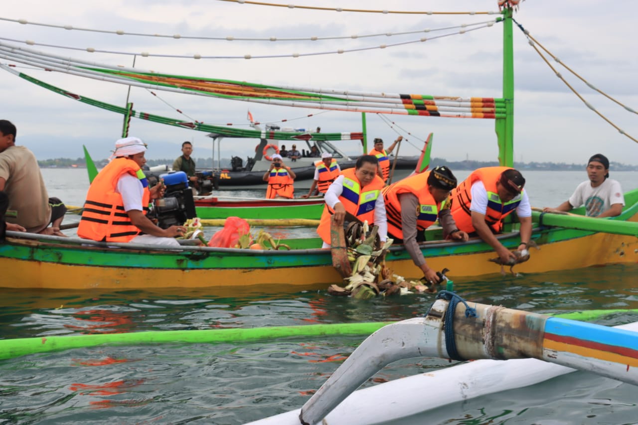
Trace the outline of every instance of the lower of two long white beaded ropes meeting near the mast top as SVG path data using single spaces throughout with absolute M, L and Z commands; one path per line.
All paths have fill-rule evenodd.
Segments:
M 409 45 L 414 43 L 423 43 L 424 41 L 427 41 L 427 40 L 435 40 L 437 38 L 469 33 L 470 31 L 476 31 L 477 29 L 491 27 L 493 26 L 493 24 L 494 22 L 490 22 L 489 24 L 485 24 L 475 28 L 461 29 L 457 33 L 442 34 L 440 36 L 433 36 L 430 38 L 422 37 L 419 40 L 403 41 L 400 43 L 391 43 L 391 44 L 382 44 L 382 45 L 372 46 L 372 47 L 360 47 L 360 48 L 350 48 L 350 49 L 339 48 L 338 50 L 332 50 L 329 52 L 311 52 L 311 53 L 296 53 L 295 52 L 292 54 L 258 55 L 258 56 L 255 56 L 252 54 L 245 54 L 242 56 L 209 56 L 209 55 L 202 55 L 198 53 L 190 54 L 190 55 L 175 55 L 175 54 L 152 54 L 149 52 L 118 52 L 115 50 L 102 50 L 102 49 L 98 49 L 94 47 L 69 47 L 69 46 L 54 45 L 54 44 L 48 44 L 48 43 L 37 43 L 36 41 L 33 41 L 33 40 L 16 40 L 15 38 L 6 38 L 6 37 L 0 37 L 0 40 L 12 41 L 13 43 L 24 43 L 30 46 L 36 45 L 36 46 L 43 46 L 43 47 L 63 48 L 66 50 L 79 50 L 79 51 L 85 51 L 89 53 L 106 53 L 106 54 L 118 54 L 118 55 L 128 55 L 128 56 L 142 56 L 142 57 L 172 57 L 172 58 L 181 58 L 181 59 L 271 59 L 271 58 L 278 58 L 278 57 L 302 57 L 302 56 L 322 56 L 322 55 L 332 55 L 332 54 L 344 54 L 344 53 L 352 53 L 352 52 L 363 52 L 366 50 L 376 50 L 376 49 L 382 49 L 382 48 L 404 46 L 404 45 Z

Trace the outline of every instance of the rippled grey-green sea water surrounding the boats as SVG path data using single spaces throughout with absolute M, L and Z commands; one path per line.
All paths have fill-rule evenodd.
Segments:
M 468 173 L 456 174 L 462 179 Z M 50 195 L 82 204 L 88 186 L 85 170 L 48 169 L 43 175 Z M 535 206 L 560 204 L 586 178 L 584 171 L 524 175 Z M 636 172 L 612 173 L 612 177 L 625 190 L 638 181 Z M 638 309 L 636 276 L 638 265 L 519 277 L 495 273 L 480 280 L 455 280 L 455 289 L 471 301 L 538 313 Z M 423 315 L 433 299 L 413 294 L 357 301 L 330 297 L 325 288 L 300 291 L 285 282 L 223 293 L 214 288 L 0 288 L 0 338 L 401 320 Z M 597 322 L 617 325 L 637 320 L 638 314 L 625 311 Z M 242 424 L 299 408 L 363 338 L 94 347 L 4 360 L 0 361 L 0 423 Z M 448 366 L 440 359 L 400 361 L 382 369 L 364 387 Z M 424 389 L 423 396 L 433 393 L 436 389 Z M 394 423 L 635 423 L 637 401 L 634 385 L 576 372 Z

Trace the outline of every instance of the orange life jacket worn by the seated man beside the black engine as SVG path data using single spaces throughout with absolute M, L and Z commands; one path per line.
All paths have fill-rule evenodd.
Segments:
M 144 172 L 133 160 L 115 158 L 102 168 L 89 186 L 78 225 L 79 237 L 93 241 L 128 242 L 142 233 L 131 223 L 131 218 L 124 211 L 122 195 L 115 192 L 117 181 L 124 174 L 134 175 L 140 179 L 144 186 L 143 213 L 147 213 L 151 192 Z

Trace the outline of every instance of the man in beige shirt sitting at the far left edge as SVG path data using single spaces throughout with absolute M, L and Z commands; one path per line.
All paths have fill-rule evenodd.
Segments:
M 0 119 L 0 191 L 8 197 L 7 230 L 65 236 L 60 225 L 66 206 L 48 197 L 38 160 L 25 146 L 15 145 L 16 135 L 15 125 Z

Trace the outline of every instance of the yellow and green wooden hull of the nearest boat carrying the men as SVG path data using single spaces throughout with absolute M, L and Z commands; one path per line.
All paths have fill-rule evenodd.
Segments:
M 614 219 L 534 213 L 532 238 L 540 247 L 517 272 L 577 269 L 600 264 L 638 262 L 638 190 L 625 195 L 627 207 Z M 575 210 L 582 214 L 582 209 Z M 560 220 L 561 227 L 552 227 Z M 539 225 L 540 223 L 540 225 Z M 507 223 L 500 241 L 510 249 L 520 242 L 517 223 Z M 595 231 L 597 229 L 600 231 Z M 480 239 L 465 243 L 440 239 L 440 229 L 426 232 L 421 246 L 434 269 L 450 269 L 450 279 L 492 274 L 493 249 Z M 338 283 L 330 250 L 319 239 L 285 241 L 290 251 L 240 250 L 182 246 L 161 249 L 147 245 L 92 242 L 73 237 L 8 232 L 0 245 L 1 287 L 12 288 L 170 288 L 245 287 L 287 283 L 304 288 Z M 115 248 L 113 248 L 115 247 Z M 390 248 L 389 267 L 396 274 L 417 276 L 403 246 Z

